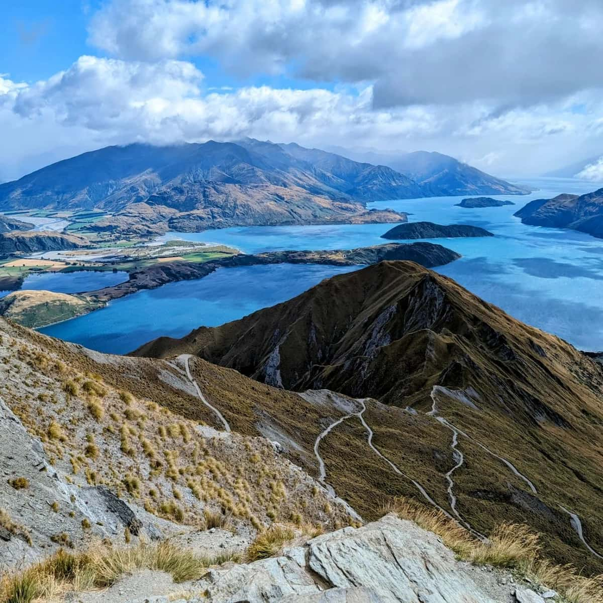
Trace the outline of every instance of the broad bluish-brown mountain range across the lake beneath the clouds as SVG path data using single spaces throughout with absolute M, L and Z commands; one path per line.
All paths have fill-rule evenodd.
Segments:
M 432 154 L 428 154 L 432 157 Z M 423 157 L 422 155 L 420 157 Z M 434 156 L 435 157 L 435 156 Z M 270 224 L 396 222 L 367 202 L 449 194 L 524 194 L 451 157 L 396 171 L 297 144 L 254 139 L 106 147 L 0 185 L 0 210 L 98 209 L 92 231 L 144 233 Z M 421 171 L 422 170 L 422 171 Z M 445 174 L 463 174 L 451 185 Z

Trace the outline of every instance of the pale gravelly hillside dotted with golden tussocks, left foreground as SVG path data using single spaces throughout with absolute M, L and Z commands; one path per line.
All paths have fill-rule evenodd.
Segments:
M 192 536 L 208 514 L 243 538 L 274 520 L 353 522 L 270 441 L 224 431 L 188 375 L 184 360 L 103 355 L 0 319 L 3 570 L 98 538 Z

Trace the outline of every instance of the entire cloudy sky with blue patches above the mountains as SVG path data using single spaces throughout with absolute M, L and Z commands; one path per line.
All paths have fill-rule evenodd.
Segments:
M 243 136 L 603 180 L 601 0 L 7 0 L 0 182 Z

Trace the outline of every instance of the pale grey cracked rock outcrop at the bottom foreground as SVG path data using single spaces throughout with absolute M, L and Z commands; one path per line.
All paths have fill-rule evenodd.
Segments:
M 388 515 L 286 548 L 279 557 L 209 570 L 191 585 L 207 603 L 540 603 L 529 583 L 458 561 L 439 537 Z M 515 594 L 516 593 L 516 594 Z M 142 595 L 142 593 L 141 593 Z M 531 598 L 532 597 L 532 598 Z M 144 598 L 135 599 L 136 603 Z M 172 599 L 173 600 L 173 599 Z M 169 601 L 157 597 L 148 601 Z M 130 602 L 134 603 L 134 601 Z

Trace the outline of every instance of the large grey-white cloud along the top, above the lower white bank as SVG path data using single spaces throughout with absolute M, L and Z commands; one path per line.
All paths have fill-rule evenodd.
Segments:
M 111 0 L 90 41 L 238 74 L 370 81 L 377 107 L 520 106 L 603 85 L 599 0 Z

